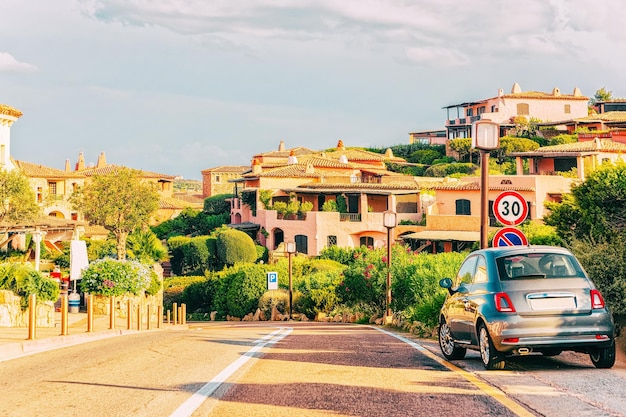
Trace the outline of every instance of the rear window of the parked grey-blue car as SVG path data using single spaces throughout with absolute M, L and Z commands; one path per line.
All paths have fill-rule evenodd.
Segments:
M 522 253 L 496 259 L 501 280 L 521 278 L 570 278 L 585 274 L 572 255 Z

